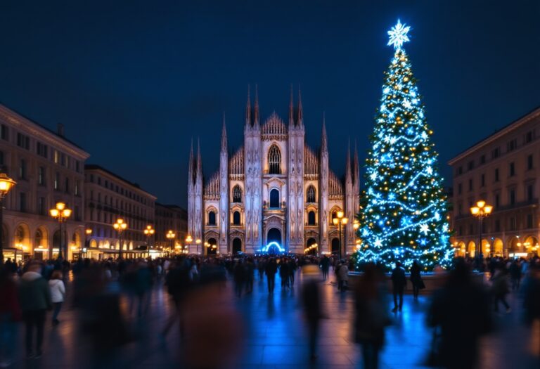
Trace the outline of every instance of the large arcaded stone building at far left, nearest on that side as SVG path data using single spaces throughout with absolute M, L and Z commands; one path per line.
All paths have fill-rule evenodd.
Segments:
M 68 258 L 84 240 L 84 162 L 86 151 L 0 105 L 0 164 L 17 184 L 4 199 L 4 257 L 48 259 L 58 255 L 60 229 L 49 216 L 56 202 L 72 214 L 63 225 Z

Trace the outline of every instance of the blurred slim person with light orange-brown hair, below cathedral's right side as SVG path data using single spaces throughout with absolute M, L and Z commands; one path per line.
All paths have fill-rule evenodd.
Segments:
M 319 287 L 319 268 L 308 264 L 302 268 L 302 307 L 309 335 L 309 358 L 315 361 L 317 338 L 319 337 L 319 321 L 323 318 L 321 290 Z

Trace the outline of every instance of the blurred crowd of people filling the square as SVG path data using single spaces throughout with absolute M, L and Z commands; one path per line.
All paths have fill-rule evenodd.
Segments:
M 487 283 L 477 283 L 473 269 L 485 272 Z M 330 268 L 333 276 L 330 274 Z M 354 296 L 354 321 L 351 331 L 354 341 L 361 346 L 365 368 L 378 368 L 378 356 L 385 342 L 385 328 L 392 324 L 392 312 L 403 306 L 408 278 L 416 301 L 425 287 L 421 266 L 415 261 L 409 277 L 397 263 L 390 274 L 380 265 L 364 266 L 361 275 L 349 285 L 353 265 L 337 257 L 314 256 L 240 256 L 240 257 L 173 257 L 169 259 L 108 259 L 77 261 L 17 262 L 8 260 L 0 267 L 0 368 L 13 361 L 18 324 L 24 324 L 27 359 L 43 354 L 44 330 L 47 317 L 52 329 L 62 321 L 66 290 L 70 290 L 70 304 L 79 311 L 79 329 L 86 337 L 94 355 L 94 367 L 111 367 L 116 349 L 132 339 L 127 319 L 139 319 L 148 314 L 150 294 L 156 285 L 164 286 L 171 297 L 172 313 L 160 330 L 165 339 L 174 325 L 180 337 L 188 335 L 190 344 L 184 346 L 186 363 L 193 368 L 219 368 L 212 358 L 196 354 L 200 343 L 205 344 L 211 331 L 216 344 L 223 345 L 220 362 L 224 363 L 234 351 L 232 345 L 242 337 L 240 325 L 227 325 L 235 316 L 225 291 L 226 280 L 233 281 L 238 298 L 251 294 L 258 275 L 266 280 L 269 296 L 276 288 L 276 275 L 281 290 L 295 288 L 295 276 L 302 269 L 300 299 L 309 335 L 311 360 L 316 360 L 316 343 L 324 313 L 321 283 L 335 285 L 340 293 L 347 290 Z M 427 323 L 433 327 L 430 364 L 445 368 L 474 368 L 478 361 L 478 340 L 491 330 L 492 315 L 502 304 L 510 312 L 507 295 L 520 293 L 527 322 L 540 318 L 540 262 L 539 259 L 482 260 L 456 259 L 454 268 L 446 273 L 442 288 L 430 297 Z M 390 309 L 387 290 L 390 279 L 394 307 Z M 122 305 L 121 300 L 126 302 Z M 201 308 L 210 309 L 204 316 Z M 122 307 L 124 306 L 124 307 Z M 229 309 L 227 308 L 229 306 Z M 215 309 L 215 310 L 214 310 Z M 219 309 L 219 310 L 218 310 Z M 51 311 L 51 313 L 48 313 Z M 216 319 L 212 324 L 208 314 Z M 218 319 L 218 317 L 221 317 Z M 239 320 L 239 319 L 238 319 Z M 219 328 L 219 335 L 215 335 Z M 219 340 L 219 342 L 217 341 Z M 187 342 L 187 341 L 186 341 Z M 227 351 L 226 347 L 231 346 Z M 460 350 L 460 356 L 452 353 Z M 204 359 L 204 362 L 200 360 Z M 232 362 L 233 358 L 230 357 Z M 212 366 L 214 365 L 214 366 Z

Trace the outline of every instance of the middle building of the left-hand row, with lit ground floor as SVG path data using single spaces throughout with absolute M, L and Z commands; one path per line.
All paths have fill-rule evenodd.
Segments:
M 113 224 L 127 223 L 122 232 L 122 257 L 146 257 L 144 229 L 153 225 L 156 197 L 111 171 L 96 164 L 84 167 L 85 219 L 91 234 L 86 238 L 86 257 L 117 257 L 119 235 Z

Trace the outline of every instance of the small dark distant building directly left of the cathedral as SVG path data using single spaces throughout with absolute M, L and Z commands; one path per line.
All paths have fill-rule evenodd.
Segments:
M 172 231 L 174 238 L 167 238 L 167 233 Z M 182 252 L 185 240 L 188 236 L 188 212 L 177 205 L 163 205 L 155 203 L 155 236 L 153 246 L 158 250 Z

